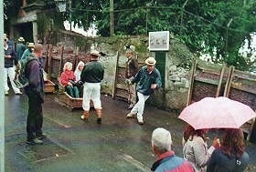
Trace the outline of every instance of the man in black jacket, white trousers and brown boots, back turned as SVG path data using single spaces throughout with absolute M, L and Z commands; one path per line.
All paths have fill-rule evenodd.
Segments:
M 88 121 L 90 101 L 92 100 L 93 106 L 96 110 L 98 119 L 97 123 L 101 124 L 101 80 L 104 76 L 104 66 L 101 65 L 99 60 L 99 52 L 96 50 L 90 53 L 91 61 L 83 66 L 80 74 L 80 80 L 83 83 L 83 116 L 82 120 Z

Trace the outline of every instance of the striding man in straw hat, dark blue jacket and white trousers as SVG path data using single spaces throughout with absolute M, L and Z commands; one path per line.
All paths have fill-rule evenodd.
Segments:
M 150 56 L 144 63 L 146 66 L 143 66 L 136 76 L 134 76 L 132 80 L 128 81 L 130 84 L 137 83 L 136 91 L 139 101 L 135 106 L 133 106 L 133 109 L 127 115 L 127 118 L 132 118 L 137 114 L 138 123 L 140 125 L 144 125 L 144 102 L 151 94 L 153 94 L 155 89 L 162 86 L 160 73 L 155 68 L 155 58 Z

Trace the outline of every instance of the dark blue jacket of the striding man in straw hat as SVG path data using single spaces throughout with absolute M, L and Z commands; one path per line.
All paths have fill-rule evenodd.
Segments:
M 144 96 L 149 96 L 154 92 L 154 90 L 151 89 L 152 84 L 156 84 L 157 89 L 162 86 L 161 75 L 157 68 L 154 68 L 152 73 L 149 74 L 146 70 L 146 66 L 143 66 L 133 77 L 132 83 L 138 83 L 136 91 Z

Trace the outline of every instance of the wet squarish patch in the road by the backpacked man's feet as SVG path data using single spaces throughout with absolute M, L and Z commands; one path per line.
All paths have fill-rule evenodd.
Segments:
M 64 157 L 69 153 L 72 153 L 69 149 L 59 146 L 48 138 L 44 139 L 43 141 L 43 145 L 19 145 L 17 153 L 34 163 Z

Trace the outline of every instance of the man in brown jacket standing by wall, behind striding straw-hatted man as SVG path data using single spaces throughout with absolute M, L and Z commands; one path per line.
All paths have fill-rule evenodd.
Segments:
M 133 77 L 137 74 L 139 71 L 139 65 L 137 59 L 133 56 L 132 49 L 126 50 L 126 57 L 127 62 L 125 67 L 125 78 L 126 79 L 133 79 Z M 128 101 L 130 101 L 130 106 L 128 106 L 128 109 L 132 109 L 133 106 L 136 104 L 136 91 L 135 91 L 135 85 L 129 85 L 128 84 Z

